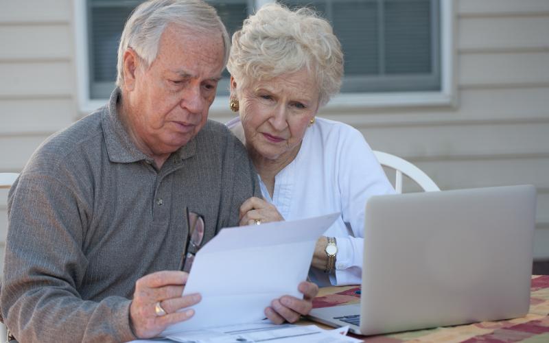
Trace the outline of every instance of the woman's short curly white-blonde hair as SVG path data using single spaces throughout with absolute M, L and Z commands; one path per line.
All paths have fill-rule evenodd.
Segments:
M 341 87 L 343 53 L 328 21 L 313 10 L 264 5 L 233 34 L 227 69 L 238 88 L 305 67 L 316 78 L 319 105 L 327 104 Z

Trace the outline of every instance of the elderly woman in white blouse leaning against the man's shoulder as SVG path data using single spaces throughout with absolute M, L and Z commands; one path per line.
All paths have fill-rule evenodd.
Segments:
M 307 9 L 265 5 L 233 35 L 227 125 L 246 145 L 265 200 L 250 198 L 240 224 L 341 215 L 318 239 L 309 277 L 318 285 L 361 281 L 364 207 L 393 193 L 362 134 L 315 118 L 338 93 L 343 56 L 327 21 Z

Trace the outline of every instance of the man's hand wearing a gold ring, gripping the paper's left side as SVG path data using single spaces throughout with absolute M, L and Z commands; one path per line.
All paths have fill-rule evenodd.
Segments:
M 183 294 L 189 274 L 186 272 L 163 271 L 143 276 L 135 283 L 130 324 L 138 338 L 152 338 L 176 322 L 183 322 L 194 315 L 193 309 L 177 312 L 200 301 L 200 294 Z M 159 303 L 166 312 L 158 316 L 155 311 Z

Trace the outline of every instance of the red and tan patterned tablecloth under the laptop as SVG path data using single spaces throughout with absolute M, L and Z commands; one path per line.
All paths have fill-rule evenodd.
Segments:
M 360 287 L 325 287 L 314 299 L 313 307 L 358 303 Z M 456 327 L 355 336 L 364 342 L 549 342 L 549 275 L 532 276 L 530 311 L 522 318 L 479 322 Z

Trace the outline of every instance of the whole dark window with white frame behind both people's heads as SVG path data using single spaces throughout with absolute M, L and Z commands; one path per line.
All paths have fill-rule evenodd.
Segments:
M 96 99 L 99 104 L 108 98 L 114 87 L 117 46 L 124 22 L 143 1 L 75 1 L 77 12 L 81 6 L 85 19 L 84 25 L 80 25 L 84 27 L 80 37 L 87 42 L 80 49 L 84 55 L 79 58 L 79 73 L 84 76 L 80 79 L 86 80 L 80 83 L 85 88 L 80 94 L 81 97 L 84 94 L 84 102 Z M 272 1 L 207 0 L 218 10 L 229 34 L 240 29 L 242 21 L 257 6 Z M 369 97 L 379 99 L 379 96 L 388 95 L 386 103 L 390 105 L 395 101 L 395 95 L 406 97 L 419 93 L 423 97 L 412 99 L 412 103 L 429 102 L 425 94 L 443 95 L 444 99 L 439 98 L 436 104 L 449 102 L 452 45 L 448 41 L 452 38 L 449 33 L 452 17 L 448 12 L 451 0 L 277 1 L 290 8 L 312 7 L 330 21 L 345 56 L 342 96 L 360 95 L 353 97 L 351 102 L 362 104 L 368 102 L 364 99 Z M 444 18 L 447 23 L 443 23 Z M 78 42 L 77 38 L 77 45 Z M 225 71 L 218 95 L 228 95 L 228 76 Z M 379 94 L 377 98 L 376 94 Z M 349 104 L 349 101 L 341 103 Z

